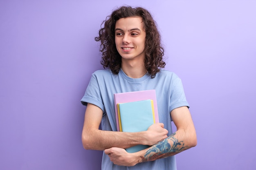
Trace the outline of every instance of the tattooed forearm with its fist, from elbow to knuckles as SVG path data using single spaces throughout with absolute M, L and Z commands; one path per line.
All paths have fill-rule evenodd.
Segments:
M 128 153 L 123 148 L 113 147 L 106 149 L 105 154 L 116 165 L 135 166 L 137 163 L 169 157 L 195 146 L 196 137 L 192 137 L 193 135 L 191 135 L 191 137 L 187 136 L 189 137 L 187 138 L 186 136 L 180 137 L 179 135 L 179 132 L 173 133 L 157 144 L 139 152 Z

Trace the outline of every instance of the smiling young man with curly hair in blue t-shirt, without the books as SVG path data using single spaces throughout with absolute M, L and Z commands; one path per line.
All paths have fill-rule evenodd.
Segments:
M 121 7 L 103 23 L 95 40 L 101 41 L 101 64 L 109 69 L 92 74 L 81 99 L 87 106 L 83 146 L 104 150 L 102 170 L 176 170 L 173 155 L 194 147 L 197 139 L 180 78 L 160 69 L 164 50 L 156 24 L 140 7 Z M 156 91 L 161 123 L 143 132 L 117 132 L 114 94 L 150 89 Z M 138 144 L 150 147 L 126 152 Z

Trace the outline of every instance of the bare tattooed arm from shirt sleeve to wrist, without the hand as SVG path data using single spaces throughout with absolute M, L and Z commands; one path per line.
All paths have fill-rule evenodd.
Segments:
M 196 146 L 196 132 L 189 109 L 186 106 L 175 108 L 171 111 L 171 117 L 177 131 L 147 150 L 143 150 L 139 162 L 169 157 Z

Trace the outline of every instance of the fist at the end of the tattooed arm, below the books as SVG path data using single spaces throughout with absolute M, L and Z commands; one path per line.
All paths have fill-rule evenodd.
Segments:
M 135 166 L 138 163 L 134 153 L 128 153 L 123 148 L 112 147 L 105 149 L 105 154 L 110 157 L 110 161 L 119 166 Z

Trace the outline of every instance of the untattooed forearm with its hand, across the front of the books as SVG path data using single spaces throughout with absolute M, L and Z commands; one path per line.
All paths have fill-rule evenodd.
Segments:
M 82 141 L 85 149 L 92 150 L 112 147 L 129 148 L 139 144 L 152 146 L 165 139 L 167 133 L 168 130 L 164 129 L 164 124 L 161 123 L 155 123 L 142 132 L 115 132 L 84 126 Z

